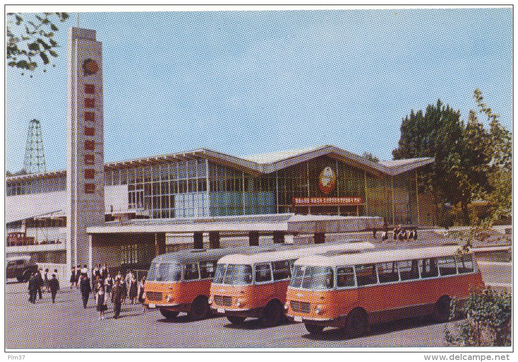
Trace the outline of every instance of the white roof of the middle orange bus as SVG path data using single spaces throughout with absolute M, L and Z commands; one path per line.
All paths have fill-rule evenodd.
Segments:
M 358 250 L 372 249 L 375 245 L 366 242 L 328 243 L 317 245 L 298 245 L 287 250 L 264 252 L 259 254 L 231 254 L 222 257 L 218 263 L 222 264 L 256 264 L 260 262 L 294 260 L 306 255 L 323 254 L 329 252 L 354 253 Z

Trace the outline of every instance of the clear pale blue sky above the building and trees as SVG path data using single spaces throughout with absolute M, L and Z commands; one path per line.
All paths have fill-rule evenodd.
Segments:
M 70 16 L 55 68 L 7 69 L 11 172 L 33 118 L 47 170 L 66 168 Z M 103 43 L 106 162 L 326 144 L 388 160 L 411 109 L 441 99 L 466 120 L 477 87 L 512 129 L 510 8 L 86 12 L 80 26 Z

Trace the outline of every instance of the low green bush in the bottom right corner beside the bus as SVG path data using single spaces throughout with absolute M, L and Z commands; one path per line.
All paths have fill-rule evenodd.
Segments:
M 491 288 L 473 290 L 461 312 L 466 319 L 455 325 L 456 331 L 445 329 L 445 338 L 449 345 L 511 345 L 512 300 L 508 291 Z M 452 314 L 455 313 L 453 308 Z

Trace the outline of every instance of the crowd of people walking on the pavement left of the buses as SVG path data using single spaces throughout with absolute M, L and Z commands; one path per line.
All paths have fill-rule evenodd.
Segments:
M 44 276 L 41 275 L 41 269 L 33 273 L 28 281 L 29 301 L 36 303 L 37 297 L 41 300 L 44 291 L 51 294 L 52 303 L 55 302 L 57 291 L 60 289 L 59 280 L 57 280 L 57 270 L 49 278 L 49 269 L 45 270 Z M 99 319 L 105 319 L 105 312 L 108 310 L 108 303 L 113 305 L 113 318 L 120 316 L 123 304 L 141 303 L 143 312 L 146 312 L 146 306 L 143 304 L 145 299 L 144 284 L 146 277 L 143 276 L 139 283 L 133 271 L 128 270 L 123 276 L 119 270 L 117 275 L 112 276 L 106 266 L 96 265 L 90 275 L 86 265 L 72 267 L 70 273 L 70 289 L 79 289 L 83 308 L 88 307 L 90 295 L 93 295 L 95 307 L 99 312 Z

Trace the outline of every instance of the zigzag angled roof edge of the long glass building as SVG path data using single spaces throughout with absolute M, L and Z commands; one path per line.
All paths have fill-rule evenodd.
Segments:
M 434 158 L 431 157 L 372 162 L 347 150 L 326 145 L 244 157 L 232 156 L 224 154 L 223 152 L 200 148 L 188 152 L 178 152 L 176 154 L 158 155 L 127 161 L 109 162 L 105 164 L 105 168 L 114 169 L 133 167 L 142 164 L 160 163 L 164 161 L 180 161 L 186 159 L 206 158 L 212 162 L 224 164 L 229 167 L 248 172 L 252 175 L 260 175 L 282 170 L 320 156 L 334 158 L 338 161 L 350 164 L 369 173 L 390 176 L 395 176 L 403 172 L 414 170 L 434 162 Z M 58 177 L 63 176 L 64 174 L 66 174 L 66 171 L 53 171 L 39 174 L 9 176 L 6 179 L 15 181 L 40 177 Z

